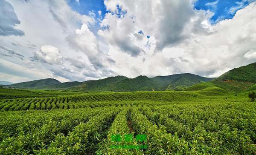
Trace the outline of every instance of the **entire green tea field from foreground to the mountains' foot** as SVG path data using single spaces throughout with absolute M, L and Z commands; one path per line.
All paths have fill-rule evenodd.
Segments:
M 256 154 L 256 104 L 196 92 L 0 100 L 0 154 Z

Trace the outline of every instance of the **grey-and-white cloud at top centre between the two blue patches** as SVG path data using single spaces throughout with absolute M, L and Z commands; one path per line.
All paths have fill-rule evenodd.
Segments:
M 127 0 L 105 0 L 106 8 L 111 11 L 102 20 L 98 34 L 109 44 L 122 52 L 136 57 L 142 54 L 144 43 L 137 32 L 142 30 L 151 40 L 155 40 L 155 52 L 174 46 L 195 33 L 209 31 L 207 20 L 209 11 L 193 8 L 195 0 L 144 0 L 135 2 Z M 119 17 L 120 9 L 125 15 Z M 117 12 L 117 13 L 116 13 Z M 203 23 L 204 22 L 204 23 Z M 205 24 L 206 23 L 206 24 Z M 207 25 L 208 24 L 208 25 Z M 198 30 L 198 31 L 193 31 Z

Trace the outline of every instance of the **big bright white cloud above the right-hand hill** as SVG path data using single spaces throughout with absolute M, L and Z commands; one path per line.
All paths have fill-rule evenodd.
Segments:
M 251 3 L 237 11 L 233 19 L 210 26 L 214 33 L 196 34 L 180 43 L 177 47 L 184 50 L 182 57 L 189 63 L 179 59 L 172 60 L 175 61 L 175 68 L 180 72 L 214 77 L 226 70 L 253 62 L 256 49 L 255 8 L 256 3 Z

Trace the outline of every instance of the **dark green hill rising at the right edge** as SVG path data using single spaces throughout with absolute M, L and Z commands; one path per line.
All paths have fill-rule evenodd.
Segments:
M 241 66 L 239 68 L 231 69 L 224 73 L 217 81 L 240 81 L 256 83 L 256 63 L 251 63 L 247 66 Z

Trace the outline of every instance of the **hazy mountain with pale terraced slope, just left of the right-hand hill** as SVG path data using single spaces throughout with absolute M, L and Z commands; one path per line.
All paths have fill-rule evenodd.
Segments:
M 184 73 L 168 76 L 156 76 L 151 79 L 160 85 L 164 90 L 182 90 L 186 89 L 188 86 L 201 82 L 208 82 L 214 80 L 215 78 L 205 78 L 199 75 Z

